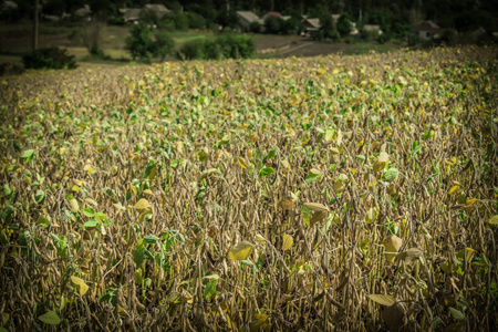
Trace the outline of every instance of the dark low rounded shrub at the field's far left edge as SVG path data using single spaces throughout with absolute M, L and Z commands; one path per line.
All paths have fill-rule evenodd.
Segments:
M 59 48 L 38 49 L 22 56 L 25 69 L 75 69 L 77 63 L 68 50 Z

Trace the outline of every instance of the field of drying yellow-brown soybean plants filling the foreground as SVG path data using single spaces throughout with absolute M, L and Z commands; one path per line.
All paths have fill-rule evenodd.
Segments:
M 497 48 L 3 77 L 1 331 L 491 331 Z

